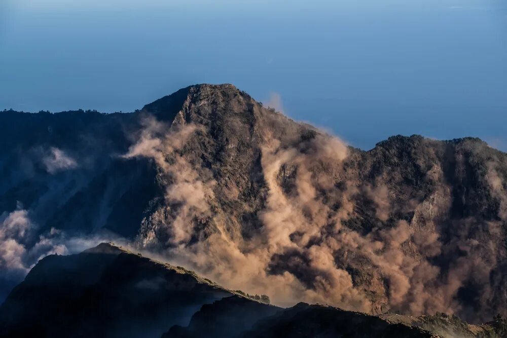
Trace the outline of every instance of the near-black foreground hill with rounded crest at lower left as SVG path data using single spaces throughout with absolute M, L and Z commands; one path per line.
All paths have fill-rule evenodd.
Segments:
M 0 307 L 2 337 L 159 337 L 232 295 L 111 244 L 39 261 Z

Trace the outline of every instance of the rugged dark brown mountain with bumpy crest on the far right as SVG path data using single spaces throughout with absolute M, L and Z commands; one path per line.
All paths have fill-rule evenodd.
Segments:
M 407 240 L 394 241 L 400 242 L 394 252 L 404 261 L 394 264 L 400 270 L 417 267 L 403 274 L 412 290 L 405 294 L 405 304 L 395 308 L 415 314 L 452 308 L 469 320 L 505 312 L 501 303 L 506 284 L 499 277 L 507 272 L 505 154 L 478 139 L 442 142 L 397 136 L 349 159 L 351 167 L 360 170 L 349 170 L 348 181 L 357 175 L 375 194 L 367 194 L 374 208 L 368 202 L 356 204 L 346 224 L 362 227 L 357 231 L 389 229 L 400 220 L 408 224 L 408 231 L 396 233 Z M 353 261 L 352 267 L 347 260 L 341 263 L 357 270 Z M 429 292 L 421 292 L 423 288 Z M 415 289 L 419 291 L 410 295 Z M 389 295 L 388 288 L 385 293 Z M 429 302 L 420 302 L 424 297 Z M 438 304 L 437 298 L 443 302 Z M 425 310 L 418 312 L 421 306 Z

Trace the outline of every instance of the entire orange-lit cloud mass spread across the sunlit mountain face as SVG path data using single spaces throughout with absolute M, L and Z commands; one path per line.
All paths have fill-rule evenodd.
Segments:
M 278 123 L 270 120 L 272 129 L 263 130 L 262 136 L 267 188 L 265 203 L 257 210 L 262 226 L 242 237 L 231 231 L 229 216 L 216 202 L 212 175 L 197 171 L 201 168 L 185 155 L 204 127 L 168 127 L 148 118 L 125 157 L 148 157 L 157 163 L 166 203 L 143 221 L 139 245 L 160 250 L 164 257 L 231 289 L 266 293 L 278 305 L 306 301 L 364 312 L 387 307 L 414 315 L 464 314 L 466 307 L 456 296 L 467 283 L 484 291 L 480 302 L 487 304 L 492 292 L 487 276 L 495 264 L 494 258 L 480 258 L 480 252 L 495 246 L 470 240 L 470 232 L 501 228 L 455 221 L 444 245 L 439 227 L 447 218 L 452 193 L 442 168 L 436 165 L 426 173 L 436 186 L 431 196 L 404 204 L 412 219 L 396 219 L 400 207 L 395 191 L 346 175 L 343 166 L 350 154 L 343 141 L 318 131 L 301 138 L 297 130 L 280 139 Z M 488 181 L 498 196 L 504 195 L 493 167 Z M 339 183 L 344 183 L 340 189 Z M 367 234 L 346 225 L 357 217 L 361 199 L 371 202 L 375 218 L 382 221 Z M 436 257 L 446 257 L 447 268 L 435 264 Z M 369 271 L 373 279 L 357 283 L 347 267 Z M 372 292 L 385 292 L 387 303 L 374 303 Z

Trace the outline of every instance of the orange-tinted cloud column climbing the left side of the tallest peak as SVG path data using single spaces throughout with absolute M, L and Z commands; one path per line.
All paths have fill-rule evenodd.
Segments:
M 188 243 L 193 225 L 211 217 L 208 201 L 213 198 L 213 179 L 205 180 L 181 155 L 180 151 L 198 127 L 193 124 L 173 126 L 152 117 L 143 120 L 144 129 L 124 158 L 147 157 L 160 169 L 165 186 L 165 205 L 145 222 L 143 242 L 164 238 L 166 244 L 180 246 Z M 166 224 L 171 224 L 167 227 Z M 150 234 L 150 235 L 148 235 Z

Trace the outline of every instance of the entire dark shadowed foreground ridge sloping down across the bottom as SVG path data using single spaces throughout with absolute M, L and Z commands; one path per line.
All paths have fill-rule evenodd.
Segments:
M 502 337 L 506 323 L 263 304 L 102 243 L 39 261 L 0 308 L 0 337 Z M 164 333 L 165 332 L 165 333 Z

